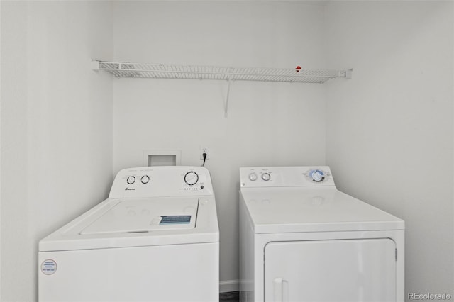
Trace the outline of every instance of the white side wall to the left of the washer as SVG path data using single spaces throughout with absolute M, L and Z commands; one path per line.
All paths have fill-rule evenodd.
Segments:
M 36 301 L 38 240 L 112 180 L 112 6 L 1 1 L 1 301 Z

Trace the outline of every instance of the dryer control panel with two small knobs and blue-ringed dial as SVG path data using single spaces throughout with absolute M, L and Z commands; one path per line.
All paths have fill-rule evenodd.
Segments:
M 335 186 L 331 170 L 322 167 L 243 167 L 242 188 L 280 186 Z

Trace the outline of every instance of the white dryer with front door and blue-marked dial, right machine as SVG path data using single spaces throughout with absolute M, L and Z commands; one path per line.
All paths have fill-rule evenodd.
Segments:
M 240 168 L 240 301 L 404 301 L 404 221 L 329 167 Z

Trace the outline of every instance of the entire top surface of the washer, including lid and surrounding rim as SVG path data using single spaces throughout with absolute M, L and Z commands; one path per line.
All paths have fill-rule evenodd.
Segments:
M 214 196 L 106 199 L 43 238 L 40 252 L 219 242 Z

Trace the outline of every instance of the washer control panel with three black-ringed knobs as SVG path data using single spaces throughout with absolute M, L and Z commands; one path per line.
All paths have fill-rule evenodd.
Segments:
M 204 167 L 138 167 L 118 172 L 109 198 L 212 194 L 211 176 Z

